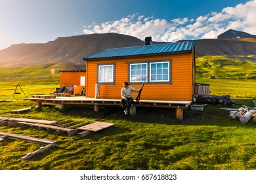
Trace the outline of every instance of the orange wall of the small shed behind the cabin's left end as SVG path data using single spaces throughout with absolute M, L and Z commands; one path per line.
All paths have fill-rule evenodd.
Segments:
M 60 86 L 80 86 L 81 76 L 86 76 L 86 72 L 70 71 L 60 73 Z

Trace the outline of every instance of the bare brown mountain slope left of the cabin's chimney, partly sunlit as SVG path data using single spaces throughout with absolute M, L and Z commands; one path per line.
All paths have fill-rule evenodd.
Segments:
M 14 44 L 0 50 L 2 67 L 23 67 L 39 63 L 83 62 L 83 57 L 106 48 L 139 46 L 144 41 L 116 33 L 59 37 L 44 44 Z

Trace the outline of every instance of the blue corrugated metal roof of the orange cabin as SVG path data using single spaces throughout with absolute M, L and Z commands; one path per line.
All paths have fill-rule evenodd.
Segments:
M 192 52 L 194 41 L 182 41 L 167 44 L 154 44 L 145 46 L 133 46 L 125 48 L 111 48 L 101 50 L 89 56 L 85 56 L 85 60 L 104 59 L 104 58 L 123 58 L 131 56 L 147 56 L 172 54 L 177 52 Z

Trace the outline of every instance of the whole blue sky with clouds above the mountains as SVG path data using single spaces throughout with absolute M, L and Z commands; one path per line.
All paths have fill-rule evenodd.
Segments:
M 182 3 L 181 3 L 182 2 Z M 0 49 L 57 37 L 116 32 L 144 40 L 256 35 L 256 0 L 0 0 Z

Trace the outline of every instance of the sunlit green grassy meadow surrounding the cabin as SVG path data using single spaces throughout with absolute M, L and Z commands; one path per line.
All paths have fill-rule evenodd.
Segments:
M 238 67 L 231 64 L 234 59 L 238 60 L 237 57 L 198 58 L 197 82 L 211 84 L 212 95 L 228 94 L 236 99 L 234 107 L 253 107 L 256 63 L 251 58 L 241 58 L 240 67 L 250 66 L 230 73 Z M 227 64 L 217 66 L 221 61 Z M 59 74 L 53 69 L 58 70 L 58 65 L 1 69 L 0 116 L 72 124 L 90 124 L 98 120 L 115 125 L 82 139 L 75 135 L 55 135 L 54 131 L 36 127 L 0 125 L 3 132 L 56 141 L 55 146 L 22 160 L 22 156 L 41 145 L 5 139 L 0 142 L 0 169 L 256 169 L 256 123 L 251 120 L 242 124 L 240 120 L 230 118 L 228 111 L 220 109 L 232 107 L 230 105 L 207 105 L 203 111 L 184 110 L 182 121 L 177 120 L 175 110 L 169 108 L 138 107 L 135 116 L 125 116 L 119 108 L 100 108 L 100 112 L 95 113 L 93 108 L 59 110 L 44 105 L 20 114 L 11 113 L 10 110 L 35 105 L 24 101 L 25 95 L 20 88 L 17 92 L 21 94 L 10 100 L 16 84 L 20 84 L 29 97 L 49 94 L 59 86 Z M 209 79 L 210 75 L 215 75 L 216 79 Z

